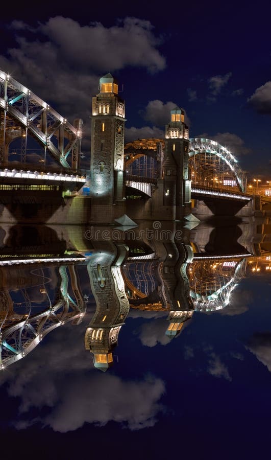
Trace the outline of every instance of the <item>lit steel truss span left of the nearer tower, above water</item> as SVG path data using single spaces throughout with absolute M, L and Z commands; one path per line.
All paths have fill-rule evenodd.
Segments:
M 0 71 L 0 165 L 8 160 L 9 144 L 22 139 L 21 162 L 26 162 L 28 135 L 65 168 L 79 168 L 82 120 L 74 126 L 26 86 Z M 54 142 L 53 142 L 54 140 Z M 56 146 L 57 145 L 57 146 Z M 71 165 L 67 159 L 71 156 Z

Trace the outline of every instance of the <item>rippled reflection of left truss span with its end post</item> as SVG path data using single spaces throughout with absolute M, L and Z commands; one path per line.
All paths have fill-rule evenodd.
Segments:
M 30 261 L 28 261 L 30 262 Z M 25 263 L 25 262 L 24 262 Z M 75 300 L 69 294 L 70 273 L 71 288 Z M 14 304 L 8 291 L 1 293 L 2 306 L 0 311 L 0 366 L 8 365 L 26 356 L 42 340 L 45 335 L 57 327 L 73 321 L 79 324 L 85 314 L 86 305 L 78 283 L 78 274 L 74 265 L 59 267 L 61 284 L 55 301 L 52 304 L 43 284 L 50 305 L 42 311 L 40 306 L 32 305 L 26 288 L 21 289 L 26 305 L 23 314 L 14 311 Z M 42 272 L 42 278 L 44 278 Z M 33 310 L 38 311 L 33 313 Z

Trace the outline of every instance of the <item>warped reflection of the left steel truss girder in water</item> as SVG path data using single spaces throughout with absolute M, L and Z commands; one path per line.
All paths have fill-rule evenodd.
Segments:
M 69 267 L 70 269 L 70 267 Z M 47 310 L 31 315 L 30 311 L 22 315 L 21 318 L 16 318 L 13 315 L 13 324 L 10 325 L 9 312 L 6 317 L 3 317 L 0 328 L 0 369 L 3 370 L 8 365 L 26 356 L 30 353 L 42 340 L 45 335 L 53 331 L 57 327 L 73 321 L 73 324 L 79 324 L 86 311 L 86 304 L 81 298 L 81 293 L 78 294 L 78 284 L 75 280 L 72 281 L 72 289 L 76 289 L 76 298 L 80 297 L 80 302 L 77 304 L 72 300 L 68 293 L 69 278 L 67 274 L 67 266 L 59 268 L 61 275 L 60 292 L 56 303 Z M 73 269 L 70 271 L 71 276 L 76 277 Z M 27 299 L 26 299 L 27 301 Z M 28 307 L 28 305 L 27 305 Z M 5 323 L 7 327 L 5 328 Z

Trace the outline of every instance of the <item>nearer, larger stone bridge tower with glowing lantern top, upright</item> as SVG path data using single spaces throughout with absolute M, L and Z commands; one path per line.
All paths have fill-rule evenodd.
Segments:
M 100 78 L 99 89 L 92 98 L 91 194 L 114 204 L 125 196 L 125 102 L 118 96 L 118 82 L 111 74 Z

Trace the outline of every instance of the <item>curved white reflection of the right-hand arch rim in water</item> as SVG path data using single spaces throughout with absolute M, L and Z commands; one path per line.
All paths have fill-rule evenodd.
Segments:
M 238 285 L 238 281 L 244 276 L 246 266 L 247 259 L 237 262 L 232 278 L 224 285 L 220 284 L 219 287 L 217 286 L 217 289 L 212 293 L 196 293 L 191 289 L 190 297 L 195 311 L 216 311 L 225 308 L 230 302 L 231 292 Z

